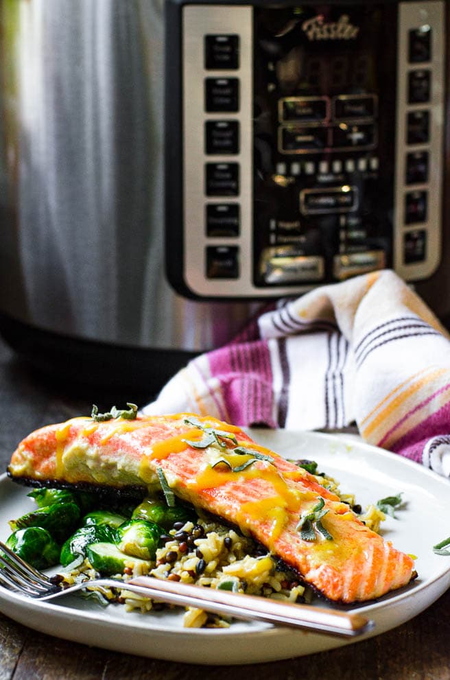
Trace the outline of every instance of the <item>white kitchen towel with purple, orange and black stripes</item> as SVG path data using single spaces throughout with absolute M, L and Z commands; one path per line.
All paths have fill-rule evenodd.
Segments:
M 280 301 L 179 371 L 147 414 L 340 430 L 450 476 L 450 341 L 391 270 Z

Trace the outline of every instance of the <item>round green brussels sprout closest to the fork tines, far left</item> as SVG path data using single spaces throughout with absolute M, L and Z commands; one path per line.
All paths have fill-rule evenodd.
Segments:
M 40 526 L 29 526 L 14 531 L 6 545 L 36 569 L 53 567 L 60 561 L 58 544 L 49 532 Z

